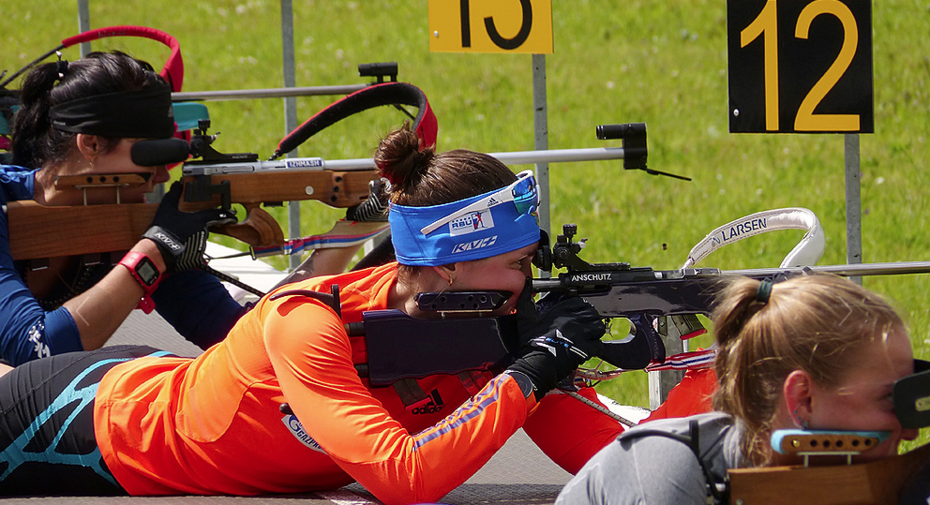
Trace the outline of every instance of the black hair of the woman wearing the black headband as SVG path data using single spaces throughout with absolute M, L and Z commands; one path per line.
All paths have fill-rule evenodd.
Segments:
M 67 65 L 51 62 L 35 67 L 23 80 L 22 107 L 13 116 L 13 164 L 42 168 L 61 163 L 71 154 L 75 134 L 52 128 L 48 117 L 52 106 L 163 83 L 151 65 L 120 51 L 93 52 Z M 116 141 L 106 138 L 105 144 L 112 148 Z

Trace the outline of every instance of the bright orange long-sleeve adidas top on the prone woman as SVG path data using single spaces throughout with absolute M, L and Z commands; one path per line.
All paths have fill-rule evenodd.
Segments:
M 266 296 L 195 359 L 115 366 L 97 390 L 94 424 L 117 481 L 133 495 L 306 492 L 358 481 L 387 504 L 430 502 L 520 427 L 572 472 L 622 431 L 566 395 L 537 405 L 508 374 L 472 374 L 471 387 L 455 375 L 418 379 L 429 400 L 415 408 L 394 387 L 371 387 L 354 366 L 367 361 L 364 338 L 347 336 L 344 323 L 386 308 L 396 273 L 388 264 L 278 290 L 328 293 L 339 284 L 341 319 L 311 297 Z M 282 413 L 285 402 L 293 415 Z

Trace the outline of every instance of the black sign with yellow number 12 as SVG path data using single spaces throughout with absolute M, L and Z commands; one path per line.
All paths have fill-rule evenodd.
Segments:
M 731 133 L 873 133 L 871 0 L 727 0 Z

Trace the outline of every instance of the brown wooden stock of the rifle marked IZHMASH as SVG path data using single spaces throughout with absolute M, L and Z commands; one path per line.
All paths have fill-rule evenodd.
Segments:
M 182 182 L 204 184 L 206 177 L 211 185 L 228 184 L 230 203 L 241 204 L 248 212 L 242 223 L 216 232 L 264 247 L 283 244 L 284 238 L 278 223 L 259 205 L 319 200 L 347 208 L 365 201 L 368 183 L 380 176 L 377 170 L 306 170 L 185 176 Z M 222 203 L 219 194 L 204 201 L 188 200 L 184 195 L 179 204 L 185 212 Z M 52 207 L 31 200 L 12 201 L 6 209 L 10 250 L 14 260 L 125 251 L 139 241 L 157 209 L 157 204 L 147 203 Z

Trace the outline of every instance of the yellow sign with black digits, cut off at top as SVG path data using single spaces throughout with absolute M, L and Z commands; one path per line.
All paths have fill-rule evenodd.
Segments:
M 552 54 L 552 2 L 429 0 L 429 50 Z

